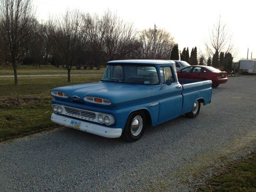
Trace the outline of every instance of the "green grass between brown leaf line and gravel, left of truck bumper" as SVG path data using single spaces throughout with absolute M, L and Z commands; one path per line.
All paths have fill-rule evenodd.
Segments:
M 56 127 L 51 114 L 50 103 L 0 108 L 0 140 Z

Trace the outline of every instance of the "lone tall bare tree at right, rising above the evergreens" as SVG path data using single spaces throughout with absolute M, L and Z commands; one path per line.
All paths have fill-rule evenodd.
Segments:
M 210 30 L 209 40 L 205 41 L 205 46 L 209 57 L 212 57 L 216 52 L 236 54 L 232 34 L 229 32 L 227 25 L 222 22 L 221 16 Z

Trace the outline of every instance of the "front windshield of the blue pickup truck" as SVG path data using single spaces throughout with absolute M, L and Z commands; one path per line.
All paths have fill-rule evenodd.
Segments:
M 155 67 L 148 66 L 106 66 L 102 81 L 136 84 L 159 84 Z

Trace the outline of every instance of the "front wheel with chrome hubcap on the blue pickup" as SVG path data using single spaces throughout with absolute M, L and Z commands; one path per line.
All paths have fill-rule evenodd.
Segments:
M 143 112 L 134 112 L 129 115 L 122 133 L 122 139 L 128 142 L 137 141 L 144 133 L 146 118 Z

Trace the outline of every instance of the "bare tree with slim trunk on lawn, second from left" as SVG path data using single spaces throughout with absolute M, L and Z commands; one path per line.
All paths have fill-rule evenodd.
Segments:
M 80 26 L 79 11 L 66 11 L 62 17 L 50 19 L 48 26 L 52 55 L 63 68 L 67 69 L 69 82 L 71 69 L 76 63 L 77 47 L 80 46 L 81 49 L 81 42 L 84 40 Z

